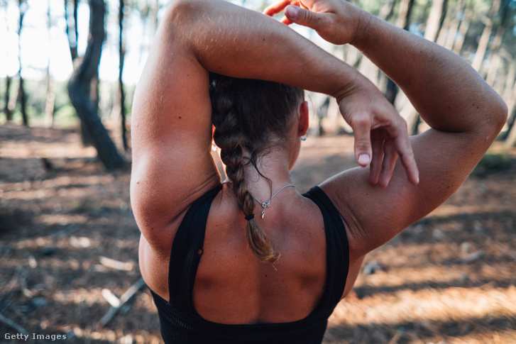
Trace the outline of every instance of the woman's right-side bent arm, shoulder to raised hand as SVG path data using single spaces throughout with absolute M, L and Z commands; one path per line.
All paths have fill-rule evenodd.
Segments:
M 507 108 L 461 57 L 346 1 L 279 1 L 265 13 L 283 9 L 285 23 L 314 28 L 331 43 L 355 45 L 400 86 L 432 127 L 411 139 L 421 175 L 417 187 L 403 182 L 399 164 L 389 158 L 373 159 L 369 170 L 350 170 L 326 182 L 344 216 L 351 217 L 348 222 L 356 223 L 357 254 L 367 253 L 456 191 L 498 135 Z M 349 106 L 340 104 L 345 118 Z M 373 152 L 383 144 L 381 138 L 375 141 Z M 392 179 L 380 167 L 394 169 Z M 386 189 L 371 185 L 386 187 L 389 179 Z

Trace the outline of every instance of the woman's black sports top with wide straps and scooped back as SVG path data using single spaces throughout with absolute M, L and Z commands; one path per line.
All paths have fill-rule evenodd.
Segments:
M 181 344 L 321 343 L 328 318 L 344 293 L 348 276 L 349 246 L 339 211 L 319 187 L 313 187 L 303 195 L 319 206 L 326 233 L 326 289 L 309 316 L 290 323 L 213 323 L 197 314 L 192 294 L 209 209 L 220 190 L 221 185 L 194 201 L 177 230 L 168 272 L 170 301 L 150 291 L 158 308 L 163 340 Z

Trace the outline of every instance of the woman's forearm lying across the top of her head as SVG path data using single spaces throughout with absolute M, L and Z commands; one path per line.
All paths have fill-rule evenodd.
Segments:
M 209 72 L 268 79 L 336 97 L 360 77 L 287 26 L 225 1 L 175 1 L 165 20 Z

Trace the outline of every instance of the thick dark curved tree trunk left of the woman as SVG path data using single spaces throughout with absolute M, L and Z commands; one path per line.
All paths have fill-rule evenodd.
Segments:
M 113 141 L 98 115 L 98 108 L 90 98 L 92 80 L 97 76 L 99 62 L 104 42 L 104 0 L 89 0 L 89 39 L 86 53 L 80 65 L 68 83 L 68 95 L 77 111 L 83 128 L 92 139 L 97 149 L 99 160 L 107 170 L 113 170 L 123 165 L 123 157 L 119 155 Z

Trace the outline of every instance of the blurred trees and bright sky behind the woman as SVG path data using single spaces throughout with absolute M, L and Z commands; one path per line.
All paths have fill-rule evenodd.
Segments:
M 0 123 L 77 126 L 104 166 L 121 166 L 131 145 L 133 89 L 166 2 L 0 0 Z M 233 2 L 258 11 L 270 4 Z M 351 2 L 471 63 L 506 101 L 510 116 L 500 140 L 516 145 L 516 0 Z M 370 78 L 412 133 L 424 130 L 407 97 L 358 50 L 331 46 L 306 28 L 294 28 Z M 339 117 L 325 96 L 312 101 L 318 118 Z

